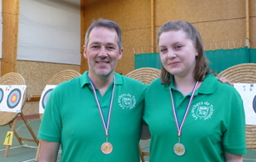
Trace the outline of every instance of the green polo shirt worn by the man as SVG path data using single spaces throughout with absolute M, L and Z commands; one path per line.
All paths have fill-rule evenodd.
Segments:
M 104 154 L 105 130 L 96 104 L 88 72 L 55 87 L 47 102 L 38 138 L 61 142 L 62 162 L 138 162 L 138 143 L 147 85 L 114 74 L 116 86 L 108 129 L 108 142 L 113 152 Z M 108 119 L 108 107 L 113 90 L 105 95 L 96 90 L 102 113 Z

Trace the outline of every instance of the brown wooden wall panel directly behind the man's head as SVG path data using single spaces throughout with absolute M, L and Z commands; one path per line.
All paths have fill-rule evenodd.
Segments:
M 116 72 L 126 74 L 134 69 L 133 49 L 150 45 L 150 1 L 94 0 L 84 6 L 85 28 L 99 18 L 116 21 L 122 30 L 124 55 Z

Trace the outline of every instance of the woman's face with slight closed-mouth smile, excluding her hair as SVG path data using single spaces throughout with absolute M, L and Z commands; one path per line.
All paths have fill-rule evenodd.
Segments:
M 161 33 L 159 49 L 160 60 L 167 72 L 180 78 L 193 76 L 195 56 L 198 53 L 186 32 L 179 30 Z

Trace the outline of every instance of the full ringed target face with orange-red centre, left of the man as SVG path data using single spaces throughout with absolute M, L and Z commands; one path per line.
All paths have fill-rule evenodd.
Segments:
M 21 92 L 19 89 L 12 90 L 7 98 L 7 105 L 9 108 L 15 108 L 20 103 Z

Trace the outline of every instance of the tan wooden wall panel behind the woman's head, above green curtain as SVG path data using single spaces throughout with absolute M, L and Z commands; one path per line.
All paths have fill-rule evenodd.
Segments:
M 250 1 L 250 5 L 252 11 L 256 2 Z M 201 32 L 207 50 L 234 49 L 245 45 L 246 1 L 157 0 L 156 27 L 170 20 L 192 23 Z

